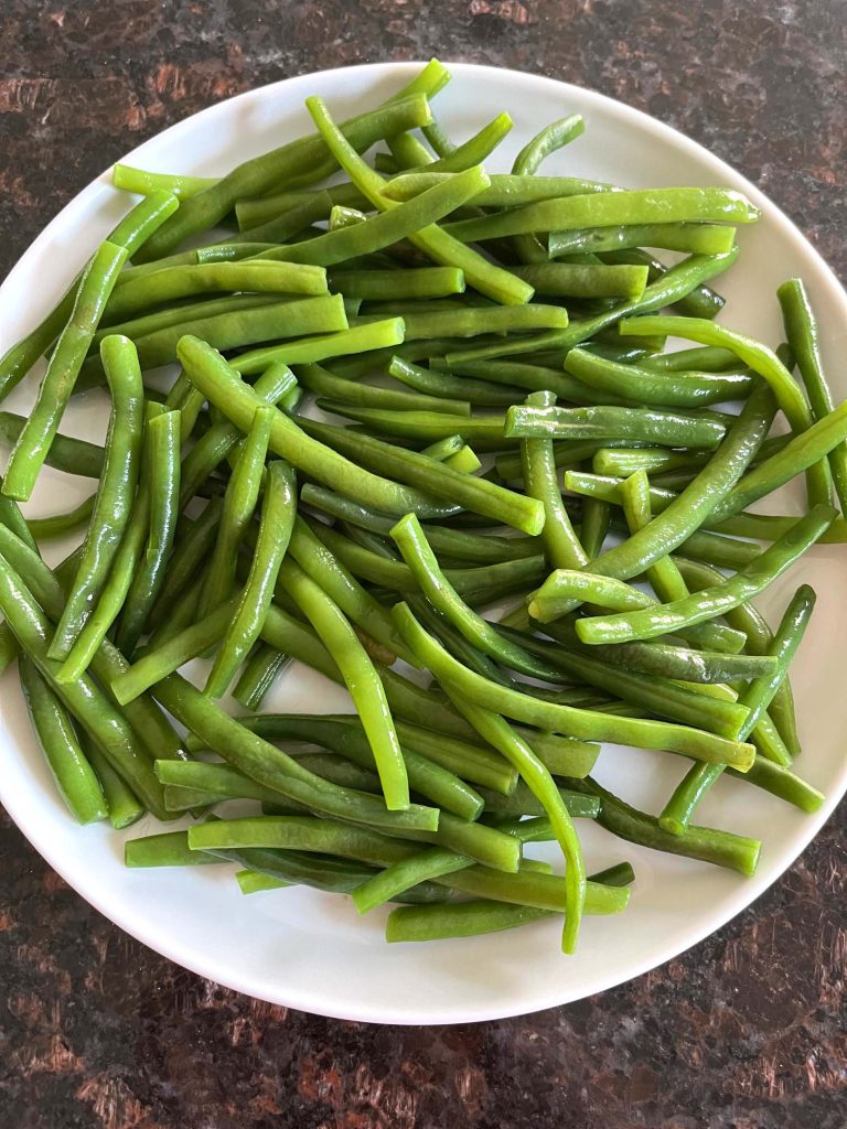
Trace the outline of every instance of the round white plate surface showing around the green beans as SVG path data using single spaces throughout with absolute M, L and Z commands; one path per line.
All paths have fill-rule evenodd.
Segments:
M 126 160 L 152 169 L 224 173 L 308 131 L 303 108 L 308 95 L 322 94 L 338 116 L 347 116 L 373 106 L 417 69 L 414 63 L 377 64 L 278 82 L 174 125 Z M 844 367 L 836 364 L 847 351 L 847 297 L 797 229 L 752 184 L 680 133 L 601 95 L 488 67 L 459 63 L 452 70 L 437 112 L 453 137 L 470 135 L 500 110 L 515 120 L 504 156 L 491 161 L 495 170 L 506 170 L 505 161 L 547 122 L 578 111 L 587 123 L 585 137 L 551 158 L 544 172 L 632 187 L 724 184 L 748 193 L 762 219 L 741 230 L 741 261 L 719 282 L 730 298 L 722 320 L 776 344 L 781 338 L 774 290 L 783 279 L 803 275 L 820 317 L 836 393 L 847 393 Z M 124 209 L 125 198 L 108 186 L 104 174 L 35 240 L 0 290 L 0 351 L 50 308 Z M 19 390 L 9 406 L 27 405 L 29 395 Z M 98 395 L 75 404 L 64 428 L 102 436 L 105 417 Z M 88 489 L 85 480 L 80 484 L 50 472 L 33 511 L 64 509 Z M 796 500 L 791 495 L 780 497 L 780 509 L 792 505 Z M 842 795 L 846 559 L 842 548 L 817 549 L 762 601 L 763 611 L 778 615 L 801 579 L 819 594 L 793 681 L 806 747 L 800 771 L 827 794 L 823 808 L 803 815 L 756 788 L 722 780 L 698 819 L 763 839 L 752 879 L 631 847 L 583 821 L 588 866 L 630 859 L 637 882 L 626 914 L 586 919 L 575 957 L 559 952 L 559 926 L 551 921 L 492 937 L 388 946 L 383 913 L 360 919 L 347 898 L 298 889 L 244 898 L 229 866 L 124 869 L 123 839 L 157 830 L 155 821 L 147 819 L 125 835 L 71 822 L 33 742 L 14 672 L 5 676 L 0 694 L 0 800 L 51 866 L 101 912 L 171 960 L 238 991 L 377 1023 L 471 1022 L 565 1004 L 662 964 L 728 921 L 796 858 Z M 348 708 L 337 688 L 307 671 L 285 679 L 273 706 Z M 609 749 L 599 776 L 636 804 L 657 811 L 684 768 L 673 756 Z

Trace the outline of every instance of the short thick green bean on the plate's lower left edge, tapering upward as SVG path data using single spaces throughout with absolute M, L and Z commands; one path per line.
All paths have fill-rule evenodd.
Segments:
M 33 730 L 68 811 L 79 823 L 108 814 L 99 780 L 79 744 L 64 706 L 32 659 L 21 656 L 20 685 Z

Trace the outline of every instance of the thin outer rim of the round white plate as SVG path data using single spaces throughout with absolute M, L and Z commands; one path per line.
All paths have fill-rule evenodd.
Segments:
M 199 119 L 202 119 L 204 115 L 213 116 L 216 112 L 219 112 L 221 106 L 230 105 L 237 102 L 246 103 L 251 98 L 262 99 L 268 97 L 271 91 L 279 91 L 280 94 L 283 94 L 285 87 L 292 82 L 305 82 L 312 79 L 317 82 L 325 80 L 329 76 L 337 79 L 346 73 L 364 73 L 367 71 L 372 71 L 374 73 L 375 80 L 381 80 L 391 75 L 404 76 L 407 73 L 416 73 L 422 65 L 425 65 L 424 61 L 386 61 L 376 63 L 357 63 L 348 67 L 331 68 L 328 70 L 308 71 L 304 75 L 292 75 L 274 82 L 269 82 L 233 95 L 232 97 L 221 99 L 210 106 L 206 106 L 197 113 L 190 114 L 178 122 L 173 123 L 167 126 L 167 129 L 155 133 L 152 137 L 141 142 L 141 145 L 119 158 L 119 160 L 123 163 L 132 163 L 133 159 L 137 159 L 143 154 L 147 146 L 159 143 L 161 139 L 167 137 L 173 139 L 173 137 L 178 135 L 181 131 L 193 129 Z M 638 126 L 639 131 L 648 132 L 654 137 L 658 135 L 663 140 L 673 143 L 678 149 L 686 151 L 688 155 L 696 157 L 698 161 L 706 164 L 716 176 L 726 177 L 728 174 L 732 177 L 733 183 L 741 185 L 741 191 L 744 191 L 759 208 L 762 210 L 767 209 L 769 219 L 776 222 L 792 242 L 798 244 L 798 247 L 804 253 L 809 254 L 811 252 L 813 259 L 817 261 L 818 269 L 822 272 L 822 275 L 827 281 L 828 288 L 832 290 L 833 299 L 841 305 L 845 318 L 847 320 L 847 292 L 845 292 L 838 277 L 832 268 L 827 263 L 820 251 L 818 251 L 818 248 L 803 235 L 797 225 L 779 207 L 777 207 L 772 200 L 770 200 L 768 195 L 761 191 L 761 189 L 698 141 L 689 138 L 674 126 L 653 117 L 645 111 L 626 105 L 617 98 L 601 94 L 600 91 L 577 86 L 550 76 L 471 62 L 445 61 L 444 65 L 451 71 L 451 73 L 456 76 L 460 72 L 469 77 L 478 76 L 481 79 L 497 76 L 500 80 L 503 80 L 504 76 L 507 76 L 510 81 L 529 81 L 541 86 L 553 86 L 559 94 L 561 94 L 562 90 L 565 93 L 575 91 L 580 100 L 585 102 L 587 99 L 590 104 L 599 105 L 605 108 L 606 112 L 613 113 L 619 120 L 631 121 Z M 44 245 L 50 242 L 54 231 L 61 227 L 66 213 L 81 203 L 84 199 L 94 198 L 103 187 L 111 186 L 108 182 L 111 178 L 112 167 L 112 165 L 107 166 L 107 168 L 105 168 L 98 176 L 76 193 L 25 248 L 20 257 L 12 265 L 2 285 L 0 285 L 0 303 L 2 301 L 3 294 L 15 287 L 16 275 L 23 269 L 24 262 L 33 254 L 42 253 Z M 0 779 L 0 794 L 2 790 L 3 785 L 2 779 Z M 785 874 L 785 872 L 796 861 L 796 859 L 810 846 L 812 840 L 819 834 L 823 824 L 832 815 L 846 791 L 847 762 L 841 768 L 837 787 L 829 789 L 826 802 L 821 808 L 818 812 L 805 816 L 806 823 L 798 835 L 800 846 L 797 849 L 792 849 L 785 857 L 780 856 L 772 874 L 769 870 L 767 873 L 759 872 L 757 876 L 746 879 L 743 884 L 740 883 L 736 891 L 722 901 L 721 911 L 709 918 L 707 925 L 701 928 L 696 928 L 689 935 L 683 948 L 680 948 L 675 943 L 666 947 L 658 945 L 656 949 L 650 952 L 648 957 L 635 965 L 628 965 L 626 974 L 618 975 L 615 973 L 611 973 L 602 980 L 600 986 L 594 984 L 587 990 L 577 988 L 575 992 L 573 989 L 568 990 L 567 988 L 559 988 L 558 991 L 550 991 L 548 994 L 548 998 L 533 998 L 533 1000 L 529 1003 L 529 1006 L 521 1007 L 519 1009 L 516 1009 L 514 1000 L 501 1006 L 479 1005 L 474 1008 L 473 1014 L 470 1015 L 456 1014 L 455 1010 L 444 1008 L 440 1010 L 430 1010 L 420 1014 L 395 1014 L 394 1010 L 385 1008 L 384 1005 L 377 1005 L 375 1007 L 358 1007 L 353 1014 L 349 1009 L 346 1010 L 343 1005 L 341 1007 L 333 1006 L 332 1000 L 330 999 L 320 997 L 316 999 L 312 998 L 316 995 L 314 988 L 309 988 L 305 992 L 300 992 L 296 983 L 287 983 L 285 986 L 285 992 L 274 992 L 273 990 L 267 989 L 262 991 L 261 986 L 251 982 L 248 975 L 239 974 L 237 969 L 227 969 L 225 970 L 226 974 L 220 975 L 221 970 L 217 968 L 217 961 L 213 956 L 203 959 L 202 954 L 197 954 L 193 951 L 186 952 L 186 943 L 174 943 L 167 937 L 167 935 L 163 937 L 161 930 L 155 926 L 151 930 L 147 931 L 143 928 L 143 921 L 140 919 L 133 920 L 131 925 L 128 925 L 124 919 L 117 920 L 115 916 L 113 916 L 114 911 L 111 911 L 108 908 L 108 899 L 102 899 L 97 895 L 96 885 L 93 884 L 93 889 L 87 889 L 85 881 L 81 881 L 81 876 L 75 872 L 73 866 L 68 865 L 66 867 L 63 859 L 56 852 L 51 850 L 49 843 L 46 847 L 43 847 L 36 842 L 37 835 L 34 839 L 29 834 L 27 828 L 21 825 L 21 822 L 19 822 L 12 807 L 9 807 L 7 798 L 1 796 L 0 798 L 3 799 L 3 806 L 9 814 L 9 817 L 28 840 L 34 850 L 36 850 L 42 858 L 45 859 L 45 861 L 80 898 L 93 905 L 112 924 L 117 926 L 120 929 L 123 929 L 125 933 L 129 933 L 141 944 L 154 949 L 154 952 L 165 959 L 189 969 L 189 971 L 194 972 L 197 975 L 203 977 L 204 979 L 271 1004 L 291 1007 L 314 1015 L 325 1016 L 328 1018 L 405 1026 L 420 1024 L 443 1025 L 456 1023 L 481 1023 L 534 1014 L 535 1012 L 544 1010 L 550 1007 L 558 1007 L 568 1003 L 575 1003 L 588 995 L 595 995 L 601 991 L 606 991 L 610 988 L 627 983 L 630 980 L 635 980 L 636 978 L 644 975 L 646 972 L 667 963 L 675 956 L 687 953 L 695 945 L 699 944 L 705 938 L 710 937 L 718 929 L 722 929 L 743 910 L 751 907 L 765 893 L 765 891 L 767 891 L 783 876 L 783 874 Z

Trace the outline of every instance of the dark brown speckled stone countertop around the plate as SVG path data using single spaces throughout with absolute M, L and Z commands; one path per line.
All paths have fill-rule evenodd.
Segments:
M 2 0 L 0 269 L 145 138 L 385 59 L 584 84 L 735 165 L 847 274 L 845 0 Z M 390 1029 L 256 1003 L 90 909 L 0 814 L 0 1129 L 844 1129 L 845 808 L 751 909 L 622 988 Z

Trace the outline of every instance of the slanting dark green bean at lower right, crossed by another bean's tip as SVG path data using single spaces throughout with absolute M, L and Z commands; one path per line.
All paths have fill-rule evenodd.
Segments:
M 770 654 L 777 660 L 776 671 L 767 677 L 756 679 L 740 695 L 739 701 L 750 710 L 750 716 L 744 724 L 745 733 L 751 733 L 762 719 L 774 694 L 785 680 L 788 665 L 809 624 L 814 601 L 814 592 L 807 585 L 802 585 L 797 589 L 770 647 Z M 763 761 L 762 763 L 767 764 L 768 762 Z M 775 768 L 778 769 L 780 765 L 775 765 Z M 780 779 L 778 774 L 776 778 L 774 773 L 768 776 L 767 769 L 763 770 L 763 774 L 766 782 Z M 665 804 L 658 821 L 663 830 L 670 831 L 672 834 L 683 834 L 691 822 L 697 805 L 714 787 L 719 776 L 721 772 L 714 765 L 709 769 L 702 764 L 693 765 Z M 815 804 L 817 800 L 812 791 L 806 791 L 796 785 L 792 789 L 789 784 L 784 782 L 783 787 L 786 786 L 789 788 L 789 795 L 794 797 L 794 802 L 797 802 L 805 809 L 809 809 L 810 803 Z

